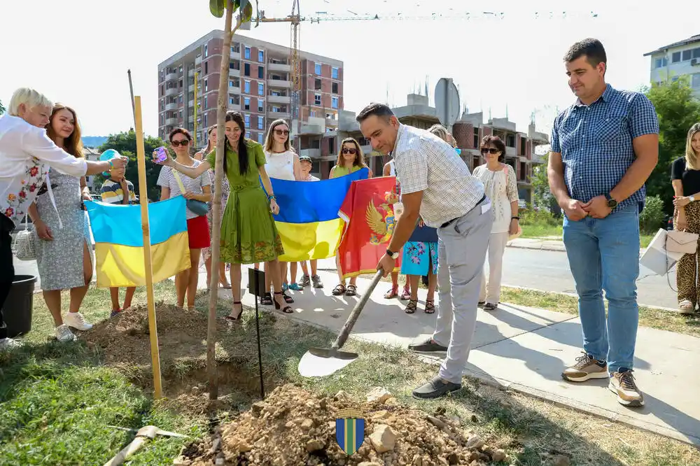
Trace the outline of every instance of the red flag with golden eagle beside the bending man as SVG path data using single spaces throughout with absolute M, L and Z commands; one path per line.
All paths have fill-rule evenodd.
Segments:
M 377 262 L 386 254 L 396 225 L 396 202 L 394 176 L 353 181 L 350 185 L 339 211 L 346 223 L 338 248 L 344 278 L 377 271 Z M 394 271 L 400 266 L 399 256 Z

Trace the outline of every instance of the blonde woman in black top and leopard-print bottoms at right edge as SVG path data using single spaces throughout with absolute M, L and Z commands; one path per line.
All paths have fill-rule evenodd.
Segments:
M 685 157 L 680 157 L 671 166 L 673 185 L 673 227 L 690 233 L 700 233 L 700 123 L 690 127 L 685 141 Z M 678 309 L 692 314 L 699 302 L 697 277 L 697 251 L 684 254 L 678 261 L 675 273 L 678 285 Z

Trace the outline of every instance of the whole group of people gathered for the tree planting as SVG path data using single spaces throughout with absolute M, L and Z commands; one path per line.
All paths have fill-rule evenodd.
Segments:
M 657 164 L 659 123 L 645 95 L 617 90 L 605 82 L 607 57 L 600 41 L 575 43 L 563 64 L 576 99 L 554 120 L 547 174 L 564 213 L 563 242 L 579 296 L 583 354 L 561 375 L 571 382 L 608 379 L 618 402 L 638 407 L 644 402 L 633 376 L 638 220 L 645 203 L 645 181 Z M 58 339 L 68 341 L 72 339 L 69 327 L 90 327 L 79 311 L 94 260 L 85 212 L 80 207 L 84 199 L 90 199 L 84 189 L 85 175 L 110 171 L 102 187 L 104 202 L 128 204 L 137 202 L 137 197 L 132 183 L 124 179 L 125 159 L 84 159 L 73 109 L 53 105 L 38 92 L 23 89 L 15 92 L 8 110 L 8 115 L 0 118 L 0 304 L 14 274 L 10 231 L 28 214 L 39 245 L 43 298 L 55 320 Z M 414 313 L 422 277 L 428 286 L 424 311 L 437 313 L 435 331 L 426 341 L 409 348 L 447 353 L 437 375 L 413 394 L 439 397 L 461 388 L 477 309 L 482 306 L 493 311 L 498 306 L 505 244 L 520 230 L 515 172 L 505 163 L 503 141 L 495 136 L 482 139 L 484 164 L 470 173 L 455 150 L 454 139 L 440 125 L 429 131 L 404 125 L 384 104 L 367 106 L 357 121 L 372 148 L 391 157 L 382 176 L 395 176 L 402 204 L 386 254 L 377 264 L 384 276 L 392 276 L 392 287 L 385 296 L 405 299 L 405 311 Z M 177 304 L 191 308 L 203 255 L 210 280 L 214 274 L 219 285 L 232 288 L 232 309 L 226 317 L 230 320 L 238 320 L 243 312 L 242 264 L 264 264 L 267 293 L 262 304 L 274 305 L 284 313 L 293 311 L 288 290 L 323 287 L 316 261 L 301 264 L 302 276 L 297 282 L 299 264 L 279 260 L 284 250 L 273 217 L 279 206 L 270 178 L 318 181 L 310 175 L 311 160 L 293 150 L 284 120 L 272 122 L 264 144 L 246 139 L 245 132 L 242 115 L 229 112 L 225 134 L 209 128 L 207 148 L 193 154 L 190 133 L 174 129 L 169 144 L 176 157 L 167 156 L 158 178 L 162 199 L 183 195 L 195 202 L 211 202 L 216 141 L 225 138 L 221 268 L 211 269 L 210 213 L 188 206 L 192 262 L 190 269 L 176 277 L 176 290 Z M 674 162 L 671 177 L 675 226 L 690 232 L 700 232 L 698 153 L 700 124 L 690 129 L 685 157 Z M 344 139 L 330 178 L 365 167 L 358 141 Z M 399 295 L 394 268 L 400 255 L 401 273 L 407 279 Z M 488 276 L 484 274 L 486 260 Z M 695 311 L 699 301 L 696 260 L 695 254 L 685 255 L 678 269 L 679 305 L 688 312 Z M 64 317 L 61 290 L 71 290 L 69 313 Z M 603 290 L 609 304 L 607 313 Z M 346 283 L 338 267 L 338 284 L 332 295 L 356 293 L 357 278 Z M 130 306 L 132 296 L 133 290 L 127 290 L 120 305 L 117 290 L 112 295 L 113 312 Z M 3 327 L 0 320 L 0 346 L 15 345 L 5 338 Z

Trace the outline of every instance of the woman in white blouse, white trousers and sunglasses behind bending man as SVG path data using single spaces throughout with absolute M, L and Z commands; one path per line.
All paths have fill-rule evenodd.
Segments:
M 481 144 L 486 163 L 474 169 L 474 176 L 484 183 L 486 196 L 493 204 L 493 227 L 489 238 L 489 281 L 482 276 L 479 304 L 484 311 L 493 311 L 500 302 L 500 279 L 503 272 L 503 253 L 508 236 L 517 233 L 518 185 L 515 171 L 505 160 L 505 144 L 498 136 L 484 136 Z

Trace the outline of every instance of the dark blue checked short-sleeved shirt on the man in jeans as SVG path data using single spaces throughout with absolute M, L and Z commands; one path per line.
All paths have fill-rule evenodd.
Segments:
M 577 101 L 561 112 L 552 127 L 552 152 L 561 153 L 570 197 L 589 202 L 609 194 L 635 160 L 632 140 L 644 134 L 659 134 L 659 120 L 640 92 L 608 84 L 592 104 Z M 615 210 L 638 204 L 641 211 L 645 197 L 642 186 Z

